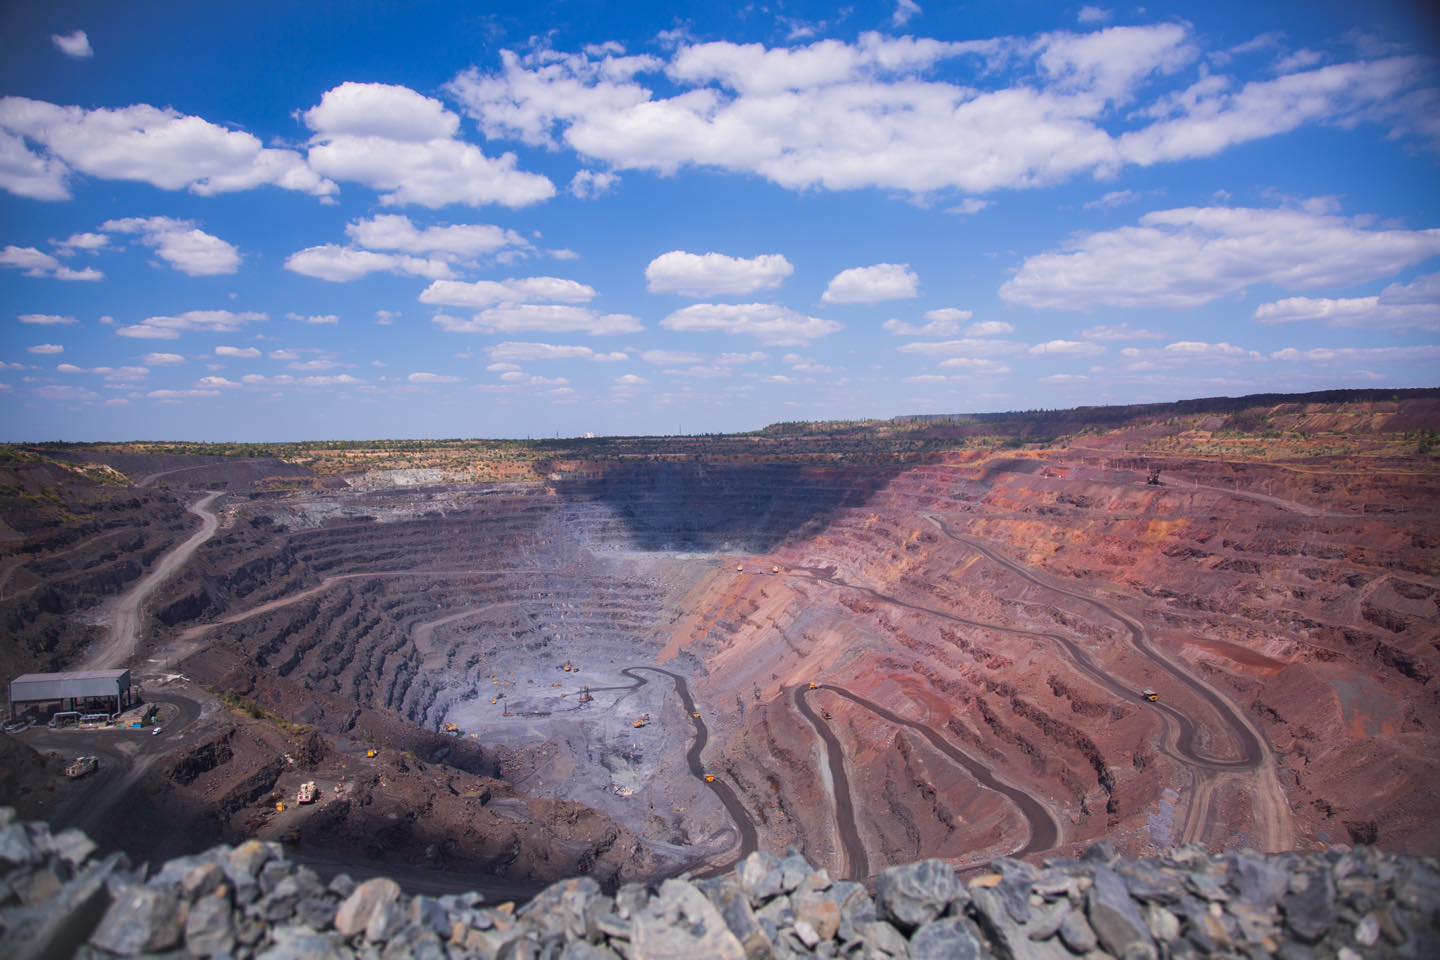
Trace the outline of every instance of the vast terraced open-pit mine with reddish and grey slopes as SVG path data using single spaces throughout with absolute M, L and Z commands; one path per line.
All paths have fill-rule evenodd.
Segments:
M 128 669 L 157 712 L 32 710 L 0 802 L 507 895 L 755 849 L 1436 855 L 1437 429 L 1431 390 L 7 448 L 7 678 Z

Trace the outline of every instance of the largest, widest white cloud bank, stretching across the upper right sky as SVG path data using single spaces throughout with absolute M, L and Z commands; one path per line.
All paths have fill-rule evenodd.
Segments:
M 1092 26 L 1106 16 L 1094 9 L 1081 19 Z M 498 68 L 471 68 L 446 89 L 487 137 L 563 144 L 608 170 L 703 167 L 792 190 L 914 194 L 1106 177 L 1305 124 L 1371 121 L 1427 135 L 1434 98 L 1416 56 L 1240 82 L 1201 58 L 1184 23 L 968 42 L 675 39 L 668 58 L 613 45 L 503 50 Z M 946 78 L 935 75 L 950 62 Z M 1152 81 L 1184 71 L 1192 71 L 1188 86 L 1142 99 Z

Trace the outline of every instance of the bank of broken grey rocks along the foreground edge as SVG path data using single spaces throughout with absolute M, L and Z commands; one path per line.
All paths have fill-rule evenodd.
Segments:
M 249 841 L 147 872 L 95 858 L 85 835 L 52 835 L 0 809 L 0 956 L 88 959 L 498 957 L 1434 957 L 1440 869 L 1431 859 L 1335 848 L 1316 853 L 1125 861 L 1012 859 L 958 875 L 943 861 L 880 874 L 874 894 L 802 856 L 753 853 L 707 879 L 588 877 L 518 910 L 478 894 L 408 897 L 384 878 L 328 884 Z

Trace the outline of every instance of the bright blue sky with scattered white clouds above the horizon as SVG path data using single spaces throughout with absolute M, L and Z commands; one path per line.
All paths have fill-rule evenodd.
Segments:
M 0 439 L 1440 377 L 1426 4 L 6 4 Z

